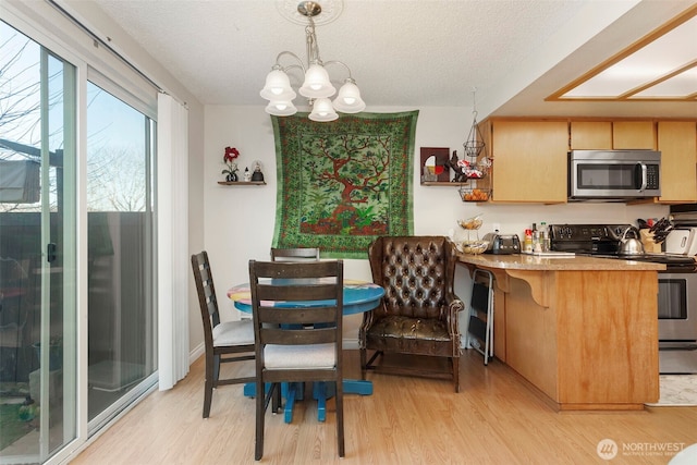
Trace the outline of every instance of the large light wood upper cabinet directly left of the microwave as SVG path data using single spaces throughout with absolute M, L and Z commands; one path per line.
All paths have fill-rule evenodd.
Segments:
M 566 201 L 566 121 L 490 122 L 493 203 Z

